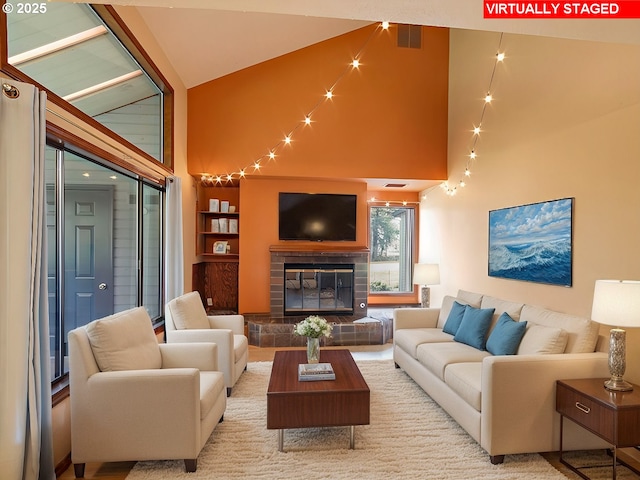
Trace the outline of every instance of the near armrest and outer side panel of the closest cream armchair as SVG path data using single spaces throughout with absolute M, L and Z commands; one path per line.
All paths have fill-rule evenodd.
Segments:
M 200 372 L 195 368 L 99 372 L 78 388 L 72 384 L 72 455 L 77 459 L 101 443 L 106 452 L 138 451 L 150 437 L 185 452 L 201 446 Z M 110 447 L 114 439 L 125 443 Z

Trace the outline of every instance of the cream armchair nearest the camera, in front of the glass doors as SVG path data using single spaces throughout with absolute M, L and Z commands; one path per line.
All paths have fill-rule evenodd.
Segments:
M 142 307 L 69 332 L 71 460 L 176 460 L 197 468 L 227 397 L 217 346 L 159 344 Z

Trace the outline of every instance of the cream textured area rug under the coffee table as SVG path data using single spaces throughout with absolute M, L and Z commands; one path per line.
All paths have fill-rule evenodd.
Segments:
M 266 428 L 271 362 L 252 362 L 228 398 L 195 473 L 182 461 L 138 462 L 127 480 L 385 479 L 566 480 L 538 454 L 507 455 L 492 465 L 487 453 L 391 360 L 358 361 L 371 390 L 371 424 L 349 428 Z M 161 420 L 161 419 L 159 419 Z

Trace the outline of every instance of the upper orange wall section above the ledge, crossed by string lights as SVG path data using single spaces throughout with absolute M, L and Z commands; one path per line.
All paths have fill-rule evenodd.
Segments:
M 372 25 L 189 89 L 189 173 L 239 172 L 297 127 L 261 176 L 446 179 L 449 30 L 423 27 L 420 49 L 395 38 Z

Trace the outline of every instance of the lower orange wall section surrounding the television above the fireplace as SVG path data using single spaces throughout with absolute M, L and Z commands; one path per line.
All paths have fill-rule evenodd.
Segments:
M 245 179 L 240 182 L 240 268 L 239 311 L 269 311 L 272 245 L 323 247 L 366 247 L 368 235 L 367 185 L 364 182 L 304 179 Z M 358 195 L 355 242 L 305 242 L 278 240 L 278 193 L 349 193 Z

